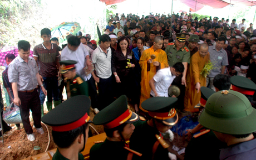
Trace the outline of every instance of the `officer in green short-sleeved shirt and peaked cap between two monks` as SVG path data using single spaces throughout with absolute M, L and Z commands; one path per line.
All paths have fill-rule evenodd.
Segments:
M 180 95 L 178 97 L 178 107 L 181 111 L 184 109 L 184 96 L 186 86 L 186 71 L 188 70 L 188 64 L 190 63 L 190 50 L 186 47 L 186 35 L 188 33 L 176 34 L 175 43 L 169 43 L 165 49 L 165 53 L 168 58 L 169 66 L 173 66 L 175 63 L 181 62 L 184 65 L 184 72 L 180 76 L 176 76 L 171 85 L 177 85 L 180 88 Z

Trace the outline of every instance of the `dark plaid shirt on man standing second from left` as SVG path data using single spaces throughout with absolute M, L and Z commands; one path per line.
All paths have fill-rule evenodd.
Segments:
M 58 74 L 56 58 L 60 56 L 60 53 L 57 44 L 52 44 L 50 50 L 43 43 L 38 44 L 34 48 L 33 56 L 38 57 L 39 74 L 42 77 L 54 77 Z

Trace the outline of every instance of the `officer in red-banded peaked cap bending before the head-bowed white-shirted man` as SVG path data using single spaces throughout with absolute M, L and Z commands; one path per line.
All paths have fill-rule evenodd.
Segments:
M 63 74 L 65 80 L 67 80 L 67 98 L 77 95 L 88 96 L 88 89 L 86 89 L 85 80 L 76 74 L 76 63 L 77 62 L 74 60 L 60 61 L 61 74 Z

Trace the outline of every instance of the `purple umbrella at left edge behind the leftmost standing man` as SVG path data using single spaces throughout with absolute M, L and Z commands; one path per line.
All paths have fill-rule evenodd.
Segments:
M 14 54 L 15 56 L 18 56 L 18 47 L 15 47 L 15 46 L 6 46 L 6 47 L 3 47 L 1 50 L 0 50 L 0 66 L 4 66 L 5 62 L 6 62 L 6 55 L 7 54 Z M 33 57 L 33 51 L 31 50 L 30 51 L 30 55 L 31 57 Z

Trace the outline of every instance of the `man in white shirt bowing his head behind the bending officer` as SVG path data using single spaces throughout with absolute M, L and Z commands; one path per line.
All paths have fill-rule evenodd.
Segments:
M 99 112 L 99 110 L 97 109 L 98 101 L 95 80 L 92 78 L 91 74 L 88 74 L 87 76 L 85 74 L 86 66 L 88 66 L 89 70 L 91 70 L 92 68 L 92 63 L 88 50 L 77 37 L 71 36 L 70 38 L 68 38 L 67 42 L 67 47 L 65 47 L 61 51 L 61 60 L 75 60 L 77 62 L 76 72 L 85 80 L 88 87 L 89 96 L 91 97 L 91 106 L 93 110 L 97 113 Z

